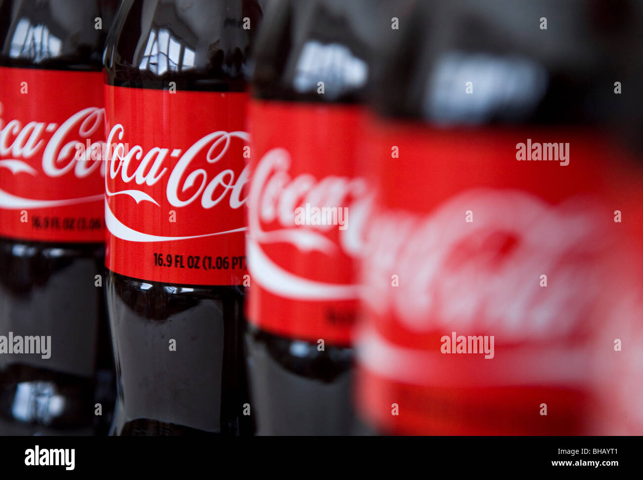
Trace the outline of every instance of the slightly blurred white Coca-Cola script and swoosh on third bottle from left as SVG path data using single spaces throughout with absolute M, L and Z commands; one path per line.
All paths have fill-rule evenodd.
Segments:
M 361 178 L 302 173 L 291 176 L 291 155 L 283 148 L 266 152 L 253 171 L 248 200 L 247 250 L 253 279 L 262 288 L 296 299 L 352 299 L 354 283 L 334 284 L 285 270 L 279 259 L 266 253 L 267 245 L 294 247 L 302 255 L 325 255 L 325 265 L 355 258 L 361 253 L 362 232 L 372 204 L 368 185 Z M 334 225 L 298 225 L 298 208 L 346 207 L 347 228 Z M 350 260 L 349 260 L 350 261 Z M 325 267 L 324 267 L 325 268 Z M 321 269 L 320 269 L 321 270 Z M 314 275 L 316 272 L 309 272 Z

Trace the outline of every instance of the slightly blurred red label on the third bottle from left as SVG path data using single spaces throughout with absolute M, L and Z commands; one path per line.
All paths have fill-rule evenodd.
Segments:
M 357 178 L 361 110 L 251 102 L 248 318 L 278 335 L 350 344 L 371 198 Z

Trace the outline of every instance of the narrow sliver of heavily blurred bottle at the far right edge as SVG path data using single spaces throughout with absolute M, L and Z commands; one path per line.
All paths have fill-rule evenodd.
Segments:
M 610 288 L 619 301 L 606 313 L 596 335 L 593 358 L 594 388 L 599 397 L 596 434 L 643 435 L 643 2 L 603 3 L 600 14 L 613 19 L 611 29 L 619 32 L 613 43 L 615 57 L 624 65 L 618 80 L 627 91 L 619 95 L 613 115 L 613 131 L 631 162 L 618 165 L 617 184 L 622 232 L 628 248 L 620 248 L 619 278 Z M 620 15 L 614 15 L 616 10 Z M 623 22 L 626 17 L 628 22 Z M 631 254 L 634 250 L 636 255 Z

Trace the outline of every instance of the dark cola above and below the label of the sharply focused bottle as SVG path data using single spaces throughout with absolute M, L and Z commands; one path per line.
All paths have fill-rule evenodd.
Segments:
M 129 88 L 244 91 L 243 69 L 264 1 L 126 1 L 105 50 L 105 82 Z M 206 26 L 207 28 L 204 28 Z M 194 67 L 143 62 L 136 50 L 166 29 L 195 52 Z M 164 63 L 166 64 L 166 63 Z M 118 252 L 114 252 L 118 255 Z M 244 288 L 177 285 L 107 273 L 107 304 L 118 377 L 116 435 L 252 434 L 242 345 Z M 177 349 L 161 360 L 168 339 Z M 190 426 L 187 426 L 190 425 Z

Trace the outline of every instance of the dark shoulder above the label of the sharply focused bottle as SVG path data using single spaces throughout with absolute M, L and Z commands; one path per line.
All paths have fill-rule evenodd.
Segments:
M 243 91 L 260 0 L 125 1 L 104 52 L 105 80 L 135 88 Z

